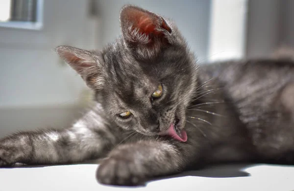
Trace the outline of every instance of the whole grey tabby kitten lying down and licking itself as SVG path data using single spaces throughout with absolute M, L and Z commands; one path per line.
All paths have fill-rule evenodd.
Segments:
M 172 21 L 130 5 L 120 21 L 100 52 L 56 48 L 96 106 L 72 127 L 1 139 L 0 166 L 106 157 L 100 183 L 138 185 L 210 163 L 294 164 L 294 62 L 198 66 Z

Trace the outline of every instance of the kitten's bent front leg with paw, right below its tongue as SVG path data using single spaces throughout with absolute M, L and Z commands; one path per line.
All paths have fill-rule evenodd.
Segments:
M 159 141 L 120 145 L 109 153 L 97 170 L 98 182 L 112 185 L 139 185 L 147 178 L 182 170 L 187 155 L 176 146 Z

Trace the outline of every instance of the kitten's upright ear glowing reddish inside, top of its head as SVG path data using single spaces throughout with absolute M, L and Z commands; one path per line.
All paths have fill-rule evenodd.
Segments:
M 128 46 L 156 51 L 168 43 L 172 29 L 160 16 L 145 9 L 126 5 L 120 14 L 123 39 Z

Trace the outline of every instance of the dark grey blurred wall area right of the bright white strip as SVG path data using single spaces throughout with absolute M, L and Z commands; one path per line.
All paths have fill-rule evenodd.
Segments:
M 269 57 L 280 46 L 294 48 L 294 0 L 249 0 L 248 58 Z

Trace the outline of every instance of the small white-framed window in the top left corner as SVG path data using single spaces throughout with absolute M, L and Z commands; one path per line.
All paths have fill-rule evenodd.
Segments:
M 0 0 L 0 27 L 41 29 L 43 0 Z

